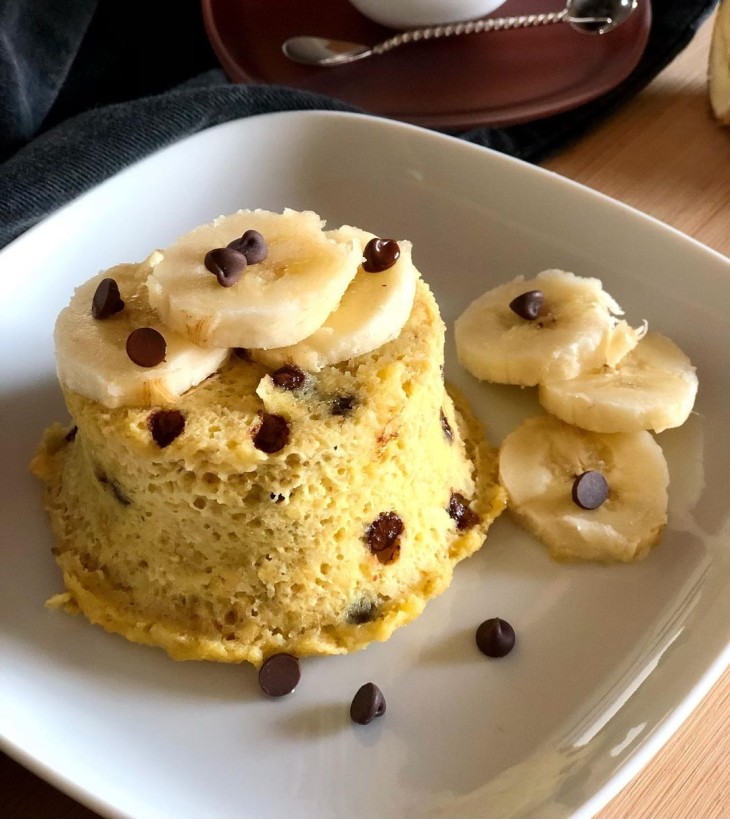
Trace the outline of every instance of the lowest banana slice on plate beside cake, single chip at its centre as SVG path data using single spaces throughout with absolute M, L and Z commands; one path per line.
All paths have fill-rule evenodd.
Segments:
M 582 500 L 576 480 L 595 472 L 608 496 L 583 508 L 573 500 L 576 493 Z M 530 418 L 502 443 L 499 479 L 512 513 L 557 559 L 631 562 L 667 521 L 669 472 L 649 432 L 602 434 L 549 415 Z

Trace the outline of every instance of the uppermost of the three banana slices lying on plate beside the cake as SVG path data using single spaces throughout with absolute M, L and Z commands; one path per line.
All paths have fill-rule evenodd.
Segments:
M 535 318 L 511 307 L 522 294 L 544 297 Z M 641 338 L 615 318 L 623 311 L 599 279 L 545 270 L 495 287 L 473 301 L 456 320 L 459 361 L 476 378 L 531 387 L 575 378 L 606 362 L 616 363 Z

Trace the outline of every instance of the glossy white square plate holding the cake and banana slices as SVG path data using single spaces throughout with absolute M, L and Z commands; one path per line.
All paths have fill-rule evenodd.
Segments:
M 502 516 L 451 588 L 387 643 L 307 659 L 297 691 L 254 669 L 174 663 L 83 618 L 60 591 L 27 464 L 66 418 L 56 314 L 74 286 L 242 207 L 311 209 L 408 238 L 449 328 L 477 294 L 561 267 L 603 279 L 634 324 L 700 376 L 696 412 L 659 436 L 670 523 L 634 566 L 559 565 Z M 230 122 L 145 159 L 0 253 L 0 724 L 7 751 L 101 813 L 134 817 L 589 816 L 677 728 L 730 657 L 730 263 L 621 204 L 503 155 L 350 114 Z M 456 363 L 494 443 L 539 408 Z M 474 646 L 509 620 L 514 652 Z M 373 680 L 388 711 L 352 725 Z

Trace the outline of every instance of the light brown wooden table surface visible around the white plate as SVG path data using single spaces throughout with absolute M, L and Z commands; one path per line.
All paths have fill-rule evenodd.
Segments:
M 706 94 L 710 19 L 634 101 L 546 167 L 627 202 L 730 255 L 730 128 Z M 0 754 L 0 815 L 96 814 Z M 730 817 L 730 670 L 597 819 Z

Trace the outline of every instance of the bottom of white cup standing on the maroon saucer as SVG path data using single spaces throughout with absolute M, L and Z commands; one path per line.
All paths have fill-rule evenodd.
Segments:
M 365 17 L 390 28 L 420 28 L 474 20 L 505 0 L 350 0 Z

